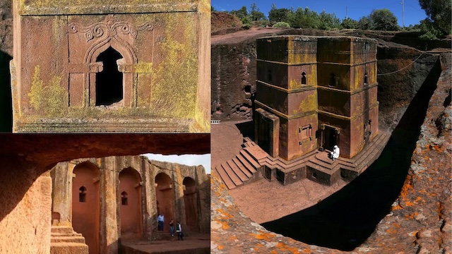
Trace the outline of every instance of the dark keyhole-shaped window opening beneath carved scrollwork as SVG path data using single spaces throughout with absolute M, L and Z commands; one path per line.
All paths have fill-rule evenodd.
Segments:
M 103 70 L 96 73 L 96 106 L 108 106 L 123 99 L 123 77 L 117 64 L 121 58 L 112 47 L 97 56 L 96 61 L 103 63 Z

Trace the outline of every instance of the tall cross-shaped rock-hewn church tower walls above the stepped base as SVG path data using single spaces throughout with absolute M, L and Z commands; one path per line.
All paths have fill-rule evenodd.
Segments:
M 269 155 L 338 145 L 352 158 L 379 133 L 375 40 L 266 37 L 257 54 L 256 143 Z

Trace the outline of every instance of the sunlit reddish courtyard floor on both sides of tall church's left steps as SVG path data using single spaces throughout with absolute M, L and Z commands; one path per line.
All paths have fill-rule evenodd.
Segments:
M 243 135 L 237 123 L 225 121 L 211 126 L 211 164 L 232 159 L 242 149 Z M 323 186 L 308 179 L 283 186 L 278 181 L 259 179 L 229 191 L 242 212 L 256 223 L 270 222 L 285 215 L 299 212 L 339 191 L 347 183 L 339 180 L 333 186 Z

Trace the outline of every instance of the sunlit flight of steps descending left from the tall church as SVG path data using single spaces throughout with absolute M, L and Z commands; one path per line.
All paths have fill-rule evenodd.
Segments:
M 259 159 L 268 156 L 249 138 L 244 138 L 242 147 L 244 148 L 234 158 L 215 167 L 218 175 L 229 189 L 242 186 L 246 181 L 254 179 L 261 169 L 261 165 L 258 163 Z

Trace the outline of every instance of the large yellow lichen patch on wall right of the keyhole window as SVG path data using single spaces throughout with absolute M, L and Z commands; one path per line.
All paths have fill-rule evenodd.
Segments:
M 196 88 L 198 81 L 198 59 L 196 56 L 196 32 L 194 16 L 174 15 L 165 20 L 165 44 L 162 52 L 165 61 L 159 64 L 153 80 L 151 107 L 160 99 L 165 99 L 165 115 L 179 118 L 193 118 L 196 108 Z M 177 28 L 181 37 L 174 37 Z

